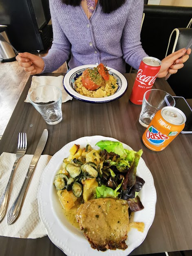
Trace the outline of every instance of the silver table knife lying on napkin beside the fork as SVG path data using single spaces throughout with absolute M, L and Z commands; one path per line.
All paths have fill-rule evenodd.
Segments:
M 35 150 L 33 158 L 31 160 L 29 169 L 26 173 L 26 177 L 24 179 L 24 182 L 23 182 L 23 185 L 20 189 L 20 192 L 19 192 L 17 198 L 15 199 L 13 205 L 11 206 L 11 209 L 9 210 L 9 212 L 7 214 L 7 225 L 13 224 L 13 222 L 15 222 L 15 220 L 18 217 L 18 214 L 19 214 L 20 209 L 21 209 L 21 204 L 22 204 L 22 201 L 23 201 L 24 192 L 26 190 L 29 179 L 31 178 L 33 170 L 35 169 L 35 166 L 38 163 L 38 160 L 39 160 L 39 158 L 40 158 L 40 156 L 41 156 L 41 154 L 44 150 L 47 138 L 48 138 L 48 130 L 45 129 L 43 131 L 42 135 L 41 135 L 40 141 L 39 141 L 38 146 Z

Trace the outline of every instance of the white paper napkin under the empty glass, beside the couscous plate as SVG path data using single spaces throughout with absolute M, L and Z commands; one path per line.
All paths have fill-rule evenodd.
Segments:
M 31 93 L 31 91 L 42 85 L 54 85 L 60 88 L 60 90 L 62 91 L 62 102 L 67 102 L 68 100 L 73 99 L 73 97 L 68 95 L 68 93 L 66 93 L 66 91 L 63 88 L 63 78 L 64 78 L 63 75 L 60 75 L 58 77 L 46 76 L 46 75 L 45 76 L 42 75 L 39 77 L 33 76 L 31 81 L 31 87 L 29 88 L 29 92 L 26 96 L 25 102 L 29 102 L 29 94 Z M 49 102 L 49 101 L 50 101 L 49 99 L 47 99 L 47 101 L 45 99 L 45 102 Z

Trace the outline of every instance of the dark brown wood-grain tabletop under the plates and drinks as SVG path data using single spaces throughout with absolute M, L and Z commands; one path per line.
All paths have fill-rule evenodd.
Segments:
M 51 73 L 46 75 L 64 75 Z M 143 149 L 142 158 L 150 169 L 157 190 L 154 222 L 143 243 L 131 254 L 150 254 L 192 249 L 192 135 L 179 134 L 161 152 L 146 148 L 141 140 L 145 128 L 139 124 L 141 106 L 129 101 L 135 74 L 125 74 L 128 90 L 120 99 L 106 104 L 90 104 L 76 99 L 62 104 L 63 120 L 50 126 L 30 103 L 25 103 L 31 85 L 27 82 L 0 141 L 2 152 L 16 153 L 18 132 L 27 133 L 26 154 L 34 154 L 42 131 L 49 131 L 43 154 L 53 155 L 66 143 L 84 136 L 113 137 L 134 150 Z M 163 79 L 153 88 L 174 92 Z M 48 236 L 37 239 L 0 237 L 1 256 L 60 256 L 64 253 Z

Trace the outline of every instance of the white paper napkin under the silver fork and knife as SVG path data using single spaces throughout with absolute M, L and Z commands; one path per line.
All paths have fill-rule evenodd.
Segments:
M 47 234 L 40 220 L 37 197 L 42 171 L 51 159 L 49 155 L 41 155 L 25 191 L 18 219 L 12 225 L 7 225 L 7 213 L 22 187 L 32 157 L 31 154 L 25 154 L 19 159 L 15 168 L 9 190 L 6 214 L 0 222 L 0 236 L 38 238 Z M 0 197 L 6 188 L 15 159 L 16 154 L 3 152 L 0 156 Z

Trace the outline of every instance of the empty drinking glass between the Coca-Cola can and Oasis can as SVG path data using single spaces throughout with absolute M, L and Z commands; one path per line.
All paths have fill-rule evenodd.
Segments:
M 143 96 L 139 123 L 148 127 L 157 111 L 166 106 L 175 106 L 175 100 L 169 93 L 159 89 L 147 90 Z

